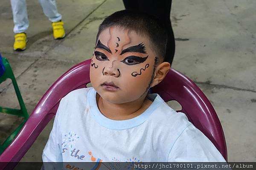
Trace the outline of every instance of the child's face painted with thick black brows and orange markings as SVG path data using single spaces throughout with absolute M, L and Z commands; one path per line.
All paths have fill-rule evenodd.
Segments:
M 119 27 L 99 35 L 91 61 L 93 88 L 106 101 L 126 103 L 145 97 L 156 54 L 147 37 Z

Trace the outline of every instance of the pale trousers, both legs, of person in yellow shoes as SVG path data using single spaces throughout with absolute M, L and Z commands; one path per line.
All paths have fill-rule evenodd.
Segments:
M 43 8 L 44 14 L 51 22 L 61 20 L 61 14 L 58 13 L 55 0 L 38 0 Z M 26 0 L 11 0 L 14 33 L 26 32 L 29 27 L 28 14 L 26 9 Z

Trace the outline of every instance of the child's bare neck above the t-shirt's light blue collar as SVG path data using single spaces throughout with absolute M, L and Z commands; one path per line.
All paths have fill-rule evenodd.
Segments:
M 102 99 L 98 93 L 96 94 L 96 101 L 99 111 L 105 117 L 113 120 L 126 120 L 139 116 L 152 103 L 145 95 L 133 102 L 113 104 Z

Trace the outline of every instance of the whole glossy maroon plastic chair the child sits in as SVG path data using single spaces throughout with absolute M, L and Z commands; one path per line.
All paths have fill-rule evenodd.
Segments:
M 55 115 L 62 97 L 70 91 L 85 88 L 90 82 L 90 59 L 64 73 L 44 94 L 15 140 L 0 155 L 2 168 L 8 162 L 18 162 Z M 159 85 L 151 88 L 166 102 L 176 100 L 189 121 L 201 130 L 227 161 L 227 147 L 218 116 L 203 92 L 188 77 L 171 68 Z M 0 167 L 1 169 L 1 167 Z

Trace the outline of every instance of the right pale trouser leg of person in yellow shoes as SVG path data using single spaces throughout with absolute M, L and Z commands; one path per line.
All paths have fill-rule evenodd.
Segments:
M 55 0 L 38 0 L 41 4 L 44 14 L 54 23 L 61 20 L 61 14 L 58 13 Z

